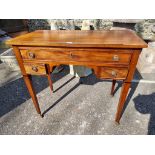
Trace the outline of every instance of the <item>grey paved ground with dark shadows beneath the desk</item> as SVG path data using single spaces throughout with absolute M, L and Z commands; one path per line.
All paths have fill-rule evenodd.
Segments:
M 54 93 L 46 77 L 33 77 L 44 118 L 36 113 L 23 79 L 0 64 L 0 134 L 155 134 L 155 82 L 133 83 L 120 121 L 114 117 L 120 95 L 117 83 L 94 75 L 79 85 L 66 68 L 52 75 Z M 10 76 L 9 76 L 10 75 Z M 135 78 L 140 78 L 138 74 Z

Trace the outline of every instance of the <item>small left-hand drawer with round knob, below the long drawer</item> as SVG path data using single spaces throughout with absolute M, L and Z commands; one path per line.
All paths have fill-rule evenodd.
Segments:
M 46 67 L 44 64 L 24 64 L 25 71 L 31 75 L 45 75 Z

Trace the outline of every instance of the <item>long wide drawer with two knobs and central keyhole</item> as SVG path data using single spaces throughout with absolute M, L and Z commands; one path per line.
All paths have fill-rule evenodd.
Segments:
M 52 61 L 89 61 L 105 63 L 129 64 L 132 52 L 108 51 L 108 50 L 65 50 L 65 49 L 41 49 L 41 50 L 21 50 L 23 59 L 32 60 L 52 60 Z

